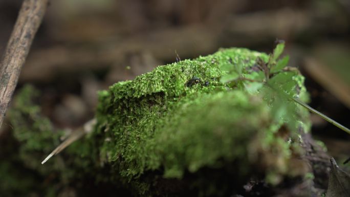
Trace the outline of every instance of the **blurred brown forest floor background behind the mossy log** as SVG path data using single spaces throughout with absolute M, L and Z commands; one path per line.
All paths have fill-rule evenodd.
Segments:
M 21 2 L 0 0 L 0 54 Z M 17 89 L 33 84 L 42 113 L 74 129 L 93 117 L 96 92 L 115 82 L 219 48 L 269 53 L 276 38 L 286 41 L 289 65 L 305 75 L 311 106 L 350 127 L 348 0 L 51 1 Z M 318 116 L 312 121 L 330 155 L 350 157 L 348 134 Z M 0 139 L 8 135 L 5 123 Z

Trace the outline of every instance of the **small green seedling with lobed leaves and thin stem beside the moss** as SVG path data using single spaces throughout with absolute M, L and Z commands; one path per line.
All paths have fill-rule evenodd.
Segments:
M 223 67 L 226 72 L 221 82 L 230 86 L 243 87 L 252 94 L 260 94 L 271 107 L 273 120 L 287 122 L 290 130 L 296 130 L 302 124 L 298 116 L 300 112 L 297 105 L 301 105 L 310 112 L 320 116 L 338 128 L 350 134 L 350 129 L 334 121 L 330 117 L 318 112 L 305 102 L 306 91 L 301 89 L 302 76 L 296 68 L 288 67 L 289 56 L 279 58 L 285 48 L 285 42 L 277 41 L 276 48 L 268 58 L 258 57 L 256 64 L 245 72 L 243 67 Z

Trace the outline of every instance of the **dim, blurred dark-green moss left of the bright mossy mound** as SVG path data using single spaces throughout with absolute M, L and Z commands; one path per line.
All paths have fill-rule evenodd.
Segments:
M 4 142 L 0 139 L 0 182 L 4 183 L 0 193 L 26 196 L 30 191 L 35 196 L 57 196 L 71 187 L 82 195 L 91 193 L 81 180 L 93 185 L 108 181 L 115 185 L 115 191 L 123 191 L 119 189 L 120 182 L 105 178 L 105 171 L 111 171 L 100 166 L 98 149 L 91 138 L 73 143 L 46 165 L 40 164 L 60 144 L 63 130 L 54 129 L 50 120 L 40 114 L 38 95 L 38 90 L 26 85 L 13 100 L 8 113 L 13 132 Z

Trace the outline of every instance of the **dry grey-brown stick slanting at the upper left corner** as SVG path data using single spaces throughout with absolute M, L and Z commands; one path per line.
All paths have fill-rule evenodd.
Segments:
M 48 0 L 24 0 L 0 63 L 0 126 Z

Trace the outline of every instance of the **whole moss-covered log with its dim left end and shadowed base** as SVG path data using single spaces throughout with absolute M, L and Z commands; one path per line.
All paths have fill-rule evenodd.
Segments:
M 94 131 L 45 165 L 40 161 L 58 145 L 61 132 L 38 116 L 27 87 L 11 113 L 16 154 L 0 162 L 2 182 L 25 179 L 20 187 L 8 182 L 1 191 L 91 195 L 97 188 L 111 196 L 255 196 L 281 193 L 289 182 L 290 190 L 304 186 L 292 196 L 310 196 L 313 169 L 301 159 L 309 150 L 300 140 L 309 129 L 308 112 L 266 94 L 257 58 L 269 57 L 225 49 L 112 85 L 99 93 Z M 240 78 L 223 83 L 232 70 Z M 280 80 L 287 94 L 307 98 L 294 70 L 279 70 L 273 80 Z M 20 176 L 13 162 L 24 170 Z

